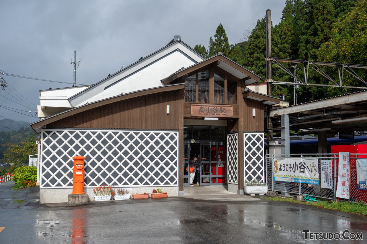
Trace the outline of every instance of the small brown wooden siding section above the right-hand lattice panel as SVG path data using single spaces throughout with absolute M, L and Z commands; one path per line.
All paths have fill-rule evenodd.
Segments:
M 245 98 L 244 103 L 244 131 L 264 131 L 264 105 L 260 101 Z M 252 117 L 252 108 L 255 108 L 256 116 Z

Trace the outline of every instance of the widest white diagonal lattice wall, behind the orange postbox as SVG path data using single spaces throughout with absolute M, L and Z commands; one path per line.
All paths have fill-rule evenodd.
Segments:
M 40 188 L 72 188 L 73 160 L 85 187 L 178 186 L 178 132 L 43 129 Z

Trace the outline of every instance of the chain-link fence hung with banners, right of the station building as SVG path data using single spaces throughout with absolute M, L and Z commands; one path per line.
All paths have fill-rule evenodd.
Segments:
M 349 187 L 349 199 L 339 198 L 340 201 L 349 201 L 353 203 L 367 203 L 367 191 L 359 190 L 357 182 L 357 159 L 367 158 L 367 154 L 350 154 L 349 158 L 349 174 L 343 174 L 345 178 L 341 181 L 345 187 Z M 287 160 L 284 160 L 287 159 Z M 303 159 L 303 160 L 302 160 Z M 306 162 L 296 163 L 297 162 Z M 285 162 L 285 163 L 280 163 Z M 294 163 L 293 163 L 294 162 Z M 312 162 L 312 163 L 310 163 Z M 279 164 L 280 163 L 280 164 Z M 279 165 L 278 165 L 279 164 Z M 317 164 L 317 165 L 314 165 Z M 338 185 L 338 154 L 267 154 L 266 155 L 266 181 L 269 191 L 281 192 L 283 195 L 310 195 L 324 199 L 337 199 Z M 305 167 L 301 167 L 301 166 Z M 277 177 L 279 171 L 289 175 L 291 172 L 299 172 L 308 170 L 311 176 L 315 176 L 314 180 L 309 178 L 294 176 Z M 366 170 L 360 169 L 360 170 Z M 276 171 L 276 172 L 275 172 Z M 283 173 L 283 174 L 284 174 Z M 318 181 L 317 181 L 317 174 Z M 367 179 L 359 179 L 367 181 Z M 363 183 L 363 182 L 362 182 Z M 367 184 L 367 182 L 364 182 Z

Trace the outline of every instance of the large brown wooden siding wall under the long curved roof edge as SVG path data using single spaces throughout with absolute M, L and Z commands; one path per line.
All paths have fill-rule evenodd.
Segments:
M 80 112 L 47 127 L 178 130 L 179 99 L 179 90 L 135 97 Z

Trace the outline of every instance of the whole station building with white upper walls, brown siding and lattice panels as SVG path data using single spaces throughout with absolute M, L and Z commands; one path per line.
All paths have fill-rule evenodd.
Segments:
M 73 156 L 85 188 L 162 188 L 183 196 L 200 154 L 200 185 L 265 182 L 264 106 L 280 99 L 247 89 L 261 80 L 222 53 L 204 58 L 180 36 L 94 85 L 40 91 L 40 202 L 67 202 Z

